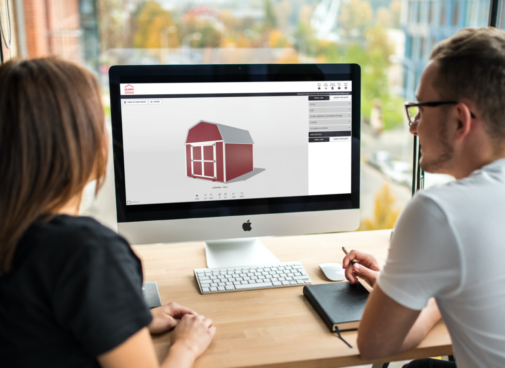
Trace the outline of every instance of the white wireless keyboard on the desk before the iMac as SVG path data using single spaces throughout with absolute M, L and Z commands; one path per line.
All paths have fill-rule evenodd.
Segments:
M 195 268 L 202 294 L 309 285 L 312 280 L 300 262 L 257 264 L 242 267 Z

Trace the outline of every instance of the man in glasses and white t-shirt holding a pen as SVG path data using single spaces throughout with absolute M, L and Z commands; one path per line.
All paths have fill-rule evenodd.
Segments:
M 382 271 L 368 254 L 344 258 L 351 284 L 362 278 L 374 287 L 358 347 L 366 360 L 410 349 L 442 316 L 458 368 L 503 367 L 505 32 L 463 29 L 440 42 L 417 99 L 408 115 L 421 167 L 457 180 L 419 192 L 403 210 Z M 423 359 L 406 366 L 456 364 Z

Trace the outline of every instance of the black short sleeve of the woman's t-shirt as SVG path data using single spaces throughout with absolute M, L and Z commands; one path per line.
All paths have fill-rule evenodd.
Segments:
M 91 356 L 118 346 L 147 326 L 140 260 L 117 234 L 80 228 L 64 248 L 52 302 L 57 322 Z M 73 244 L 71 244 L 73 243 Z

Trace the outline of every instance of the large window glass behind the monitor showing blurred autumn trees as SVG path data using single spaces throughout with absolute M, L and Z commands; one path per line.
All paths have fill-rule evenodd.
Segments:
M 403 108 L 431 49 L 486 26 L 489 0 L 10 1 L 12 55 L 56 54 L 94 71 L 110 119 L 116 64 L 358 63 L 362 229 L 390 228 L 411 198 L 413 139 Z M 16 6 L 22 5 L 22 9 Z M 501 9 L 501 8 L 500 8 Z M 0 1 L 4 24 L 5 2 Z M 424 12 L 424 13 L 423 13 Z M 4 42 L 2 42 L 4 43 Z M 111 156 L 112 157 L 112 156 Z M 112 165 L 87 213 L 115 218 Z M 426 177 L 426 185 L 446 178 Z M 92 196 L 91 196 L 92 197 Z M 91 198 L 90 197 L 90 198 Z

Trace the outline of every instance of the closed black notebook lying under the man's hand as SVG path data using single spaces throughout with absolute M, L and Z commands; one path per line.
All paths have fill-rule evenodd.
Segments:
M 304 286 L 304 295 L 331 332 L 356 330 L 370 293 L 360 283 Z

